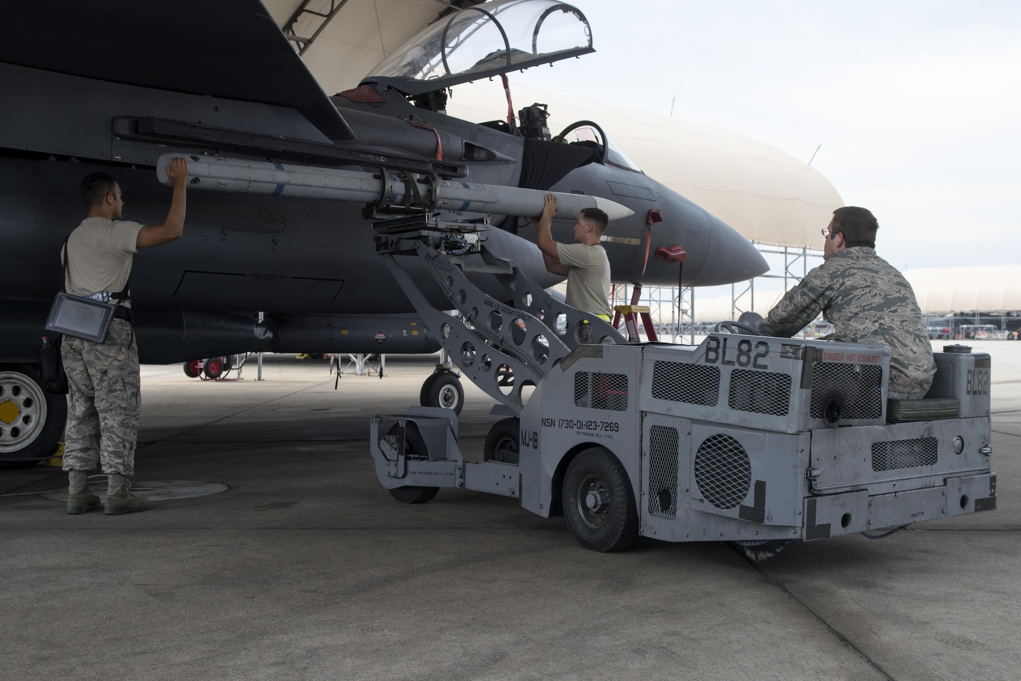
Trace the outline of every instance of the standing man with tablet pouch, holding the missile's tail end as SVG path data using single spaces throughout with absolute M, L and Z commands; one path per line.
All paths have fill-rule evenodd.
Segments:
M 67 373 L 68 408 L 63 469 L 67 471 L 67 512 L 84 513 L 100 504 L 89 491 L 87 471 L 97 463 L 107 473 L 107 515 L 145 510 L 145 497 L 131 493 L 128 475 L 135 472 L 135 441 L 140 413 L 138 347 L 131 325 L 128 279 L 139 248 L 179 238 L 184 230 L 188 164 L 166 165 L 174 197 L 161 225 L 120 219 L 120 187 L 105 173 L 82 181 L 88 217 L 67 237 L 64 290 L 72 296 L 116 301 L 106 338 L 95 343 L 64 335 L 60 357 Z

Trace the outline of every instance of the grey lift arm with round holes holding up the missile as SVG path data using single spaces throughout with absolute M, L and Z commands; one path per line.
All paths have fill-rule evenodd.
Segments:
M 453 222 L 420 215 L 373 227 L 377 253 L 426 325 L 435 329 L 453 364 L 515 415 L 525 406 L 523 390 L 538 385 L 578 347 L 583 323 L 593 325 L 599 343 L 627 343 L 605 321 L 561 303 L 514 262 L 486 251 L 485 220 Z M 481 290 L 470 274 L 494 277 L 501 300 Z M 423 292 L 429 286 L 439 287 L 459 318 L 429 303 Z

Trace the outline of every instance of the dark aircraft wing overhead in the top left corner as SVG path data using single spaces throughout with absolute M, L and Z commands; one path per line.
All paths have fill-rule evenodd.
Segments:
M 289 106 L 330 139 L 354 136 L 259 0 L 4 0 L 2 8 L 0 61 Z

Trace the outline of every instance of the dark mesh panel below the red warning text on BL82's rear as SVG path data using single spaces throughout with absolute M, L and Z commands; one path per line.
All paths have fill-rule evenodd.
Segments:
M 883 368 L 872 364 L 815 362 L 812 365 L 812 418 L 825 418 L 831 403 L 841 419 L 883 415 Z

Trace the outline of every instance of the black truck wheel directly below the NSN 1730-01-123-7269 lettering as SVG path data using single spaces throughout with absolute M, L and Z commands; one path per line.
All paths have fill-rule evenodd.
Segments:
M 604 447 L 591 447 L 571 461 L 562 495 L 568 527 L 591 551 L 625 551 L 638 537 L 631 482 Z

